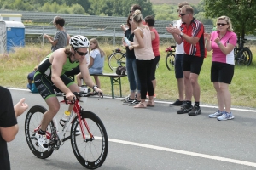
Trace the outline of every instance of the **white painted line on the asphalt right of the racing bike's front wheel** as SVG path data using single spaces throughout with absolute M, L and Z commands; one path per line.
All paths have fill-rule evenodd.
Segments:
M 119 143 L 119 144 L 129 144 L 129 145 L 139 146 L 139 147 L 143 147 L 143 148 L 149 148 L 149 149 L 153 149 L 153 150 L 163 150 L 163 151 L 173 152 L 173 153 L 177 153 L 177 154 L 183 154 L 183 155 L 187 155 L 187 156 L 197 156 L 197 157 L 202 157 L 202 158 L 207 158 L 207 159 L 212 159 L 212 160 L 217 160 L 217 161 L 226 161 L 226 162 L 230 162 L 230 163 L 236 163 L 236 164 L 240 164 L 240 165 L 256 167 L 256 163 L 250 162 L 250 161 L 240 161 L 240 160 L 230 159 L 230 158 L 226 158 L 226 157 L 210 156 L 207 154 L 200 154 L 200 153 L 195 153 L 195 152 L 191 152 L 191 151 L 175 150 L 175 149 L 166 148 L 166 147 L 160 147 L 160 146 L 155 146 L 155 145 L 150 145 L 150 144 L 140 144 L 140 143 L 135 143 L 135 142 L 128 142 L 128 141 L 119 140 L 119 139 L 108 139 L 108 141 L 114 142 L 114 143 Z

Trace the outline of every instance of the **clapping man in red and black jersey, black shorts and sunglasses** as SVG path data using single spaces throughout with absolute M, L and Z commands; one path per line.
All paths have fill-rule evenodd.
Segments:
M 183 21 L 180 28 L 166 27 L 178 44 L 182 42 L 184 44 L 183 77 L 186 103 L 177 111 L 177 114 L 189 113 L 189 116 L 197 116 L 201 114 L 198 76 L 204 57 L 207 55 L 204 26 L 200 21 L 195 20 L 194 9 L 189 5 L 184 5 L 180 9 L 180 16 Z M 194 107 L 191 105 L 192 95 L 195 99 Z

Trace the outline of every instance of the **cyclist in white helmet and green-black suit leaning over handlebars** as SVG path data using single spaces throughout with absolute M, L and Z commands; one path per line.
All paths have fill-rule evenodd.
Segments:
M 53 85 L 65 93 L 66 98 L 71 101 L 75 99 L 73 92 L 79 92 L 79 86 L 67 77 L 64 72 L 71 71 L 73 68 L 79 66 L 84 82 L 96 92 L 102 93 L 102 90 L 97 88 L 91 80 L 86 65 L 85 55 L 88 53 L 87 48 L 89 47 L 87 37 L 80 35 L 73 36 L 70 38 L 69 44 L 70 46 L 59 48 L 55 52 L 47 55 L 38 65 L 38 70 L 34 76 L 34 82 L 38 88 L 38 92 L 49 106 L 49 110 L 44 113 L 41 127 L 38 133 L 36 133 L 38 144 L 44 150 L 48 150 L 45 135 L 46 127 L 60 109 Z

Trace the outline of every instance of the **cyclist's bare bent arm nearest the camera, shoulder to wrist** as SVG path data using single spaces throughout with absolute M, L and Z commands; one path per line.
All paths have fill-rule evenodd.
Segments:
M 53 60 L 51 64 L 51 81 L 59 88 L 64 94 L 71 93 L 70 89 L 62 82 L 61 72 L 63 65 L 66 62 L 67 56 L 63 50 L 56 50 L 52 54 Z

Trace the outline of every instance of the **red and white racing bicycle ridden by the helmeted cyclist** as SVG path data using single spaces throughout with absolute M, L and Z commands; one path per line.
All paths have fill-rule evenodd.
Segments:
M 60 102 L 74 105 L 67 122 L 59 129 L 54 117 L 47 127 L 46 137 L 49 149 L 43 150 L 35 136 L 41 127 L 40 123 L 46 111 L 41 105 L 34 105 L 27 112 L 25 119 L 26 142 L 35 156 L 45 159 L 51 156 L 54 150 L 59 150 L 66 140 L 71 139 L 73 153 L 79 163 L 86 168 L 96 169 L 102 166 L 107 157 L 108 135 L 101 119 L 91 111 L 84 111 L 79 105 L 79 102 L 81 102 L 79 97 L 88 97 L 90 93 L 73 94 L 76 95 L 75 101 L 69 101 L 64 96 L 64 100 Z M 100 94 L 100 99 L 102 99 L 103 95 Z M 70 129 L 70 126 L 70 134 L 67 134 L 67 129 Z

